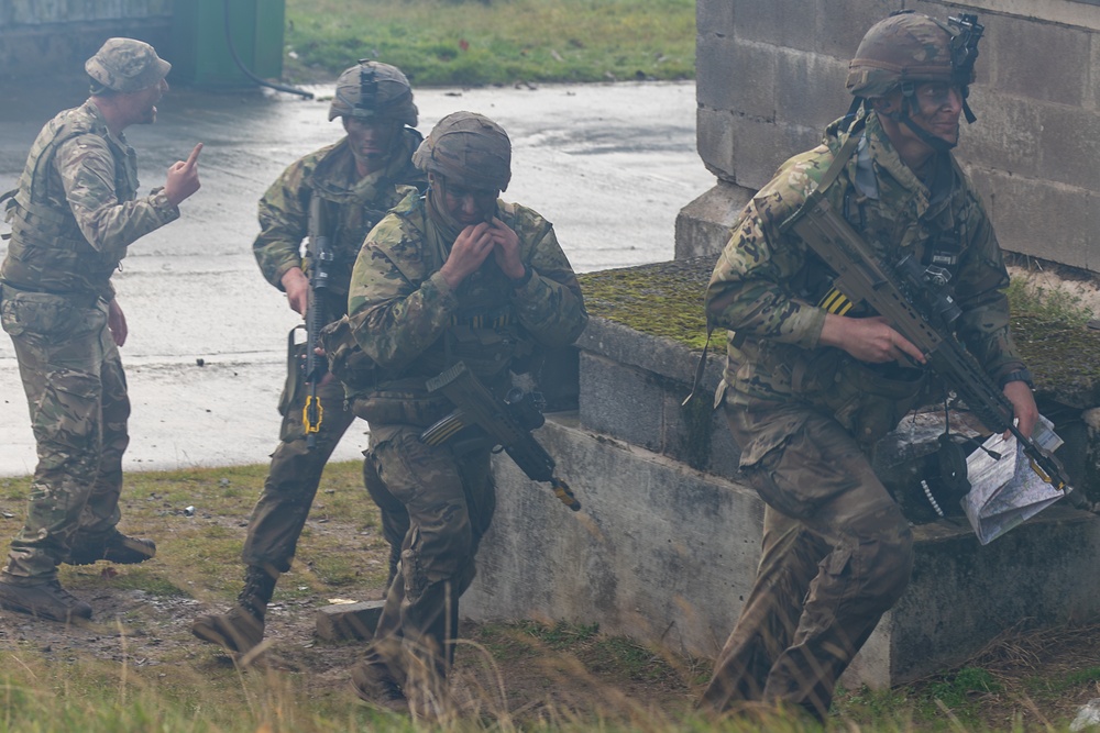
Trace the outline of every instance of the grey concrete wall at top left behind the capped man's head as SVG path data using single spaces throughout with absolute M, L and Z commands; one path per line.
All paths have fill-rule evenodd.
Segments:
M 164 48 L 173 0 L 2 0 L 0 81 L 72 76 L 114 35 Z

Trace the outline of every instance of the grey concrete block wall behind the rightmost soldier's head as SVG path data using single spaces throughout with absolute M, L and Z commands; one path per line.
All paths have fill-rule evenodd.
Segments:
M 678 258 L 721 249 L 751 192 L 847 110 L 848 59 L 900 9 L 986 26 L 957 155 L 1002 246 L 1100 271 L 1100 7 L 1078 0 L 698 0 L 698 153 L 719 182 L 681 213 Z

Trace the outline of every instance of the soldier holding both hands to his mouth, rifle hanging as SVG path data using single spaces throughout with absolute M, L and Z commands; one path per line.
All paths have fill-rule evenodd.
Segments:
M 539 347 L 572 343 L 587 322 L 576 278 L 551 224 L 498 200 L 512 145 L 491 120 L 443 118 L 413 158 L 427 171 L 366 238 L 352 274 L 352 333 L 381 368 L 373 388 L 349 390 L 371 423 L 367 460 L 408 510 L 398 576 L 365 660 L 359 695 L 389 709 L 441 703 L 459 598 L 495 507 L 490 451 L 430 447 L 420 433 L 453 406 L 425 381 L 464 362 L 498 396 Z

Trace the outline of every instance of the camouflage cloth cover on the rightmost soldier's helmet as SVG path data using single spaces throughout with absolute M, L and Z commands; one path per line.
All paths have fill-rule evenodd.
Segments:
M 859 43 L 848 64 L 845 87 L 855 97 L 870 99 L 906 81 L 969 85 L 974 81 L 972 60 L 966 69 L 956 68 L 955 36 L 950 26 L 920 13 L 902 12 L 881 20 Z

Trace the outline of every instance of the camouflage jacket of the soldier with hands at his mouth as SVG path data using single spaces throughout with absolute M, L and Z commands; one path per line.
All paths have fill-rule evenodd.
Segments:
M 572 343 L 587 322 L 576 277 L 552 225 L 525 207 L 497 202 L 496 215 L 519 237 L 531 278 L 518 289 L 493 256 L 457 290 L 439 269 L 453 244 L 410 195 L 371 232 L 352 274 L 352 333 L 384 375 L 359 395 L 356 414 L 372 423 L 427 425 L 450 411 L 427 378 L 462 360 L 498 389 L 508 370 L 539 346 Z

